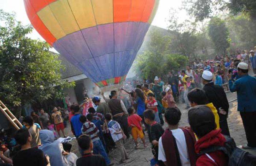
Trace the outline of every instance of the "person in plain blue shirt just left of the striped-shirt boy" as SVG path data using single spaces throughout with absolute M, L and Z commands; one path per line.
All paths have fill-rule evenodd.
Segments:
M 76 136 L 76 138 L 78 138 L 82 134 L 81 128 L 83 126 L 83 124 L 79 120 L 81 116 L 79 112 L 80 108 L 79 105 L 71 105 L 70 109 L 71 111 L 75 112 L 74 116 L 70 120 L 71 130 L 73 134 Z

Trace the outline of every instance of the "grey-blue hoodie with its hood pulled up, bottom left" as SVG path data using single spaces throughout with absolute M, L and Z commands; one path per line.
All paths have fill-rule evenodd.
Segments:
M 41 149 L 44 154 L 50 158 L 51 166 L 68 166 L 67 159 L 62 155 L 63 146 L 59 141 L 54 141 L 54 134 L 50 130 L 41 130 L 39 132 L 42 146 Z

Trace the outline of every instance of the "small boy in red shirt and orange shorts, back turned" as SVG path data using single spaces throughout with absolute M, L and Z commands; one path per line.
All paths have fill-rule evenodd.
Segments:
M 142 119 L 139 115 L 134 113 L 134 109 L 133 108 L 128 108 L 128 113 L 129 113 L 129 117 L 128 117 L 128 125 L 130 127 L 132 127 L 132 137 L 134 139 L 135 142 L 135 148 L 139 148 L 139 143 L 137 141 L 138 136 L 139 138 L 142 140 L 144 147 L 147 147 L 147 144 L 145 142 L 145 137 L 142 131 Z

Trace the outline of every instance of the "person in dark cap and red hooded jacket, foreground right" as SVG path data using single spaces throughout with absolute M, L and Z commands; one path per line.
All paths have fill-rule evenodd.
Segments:
M 195 151 L 199 154 L 202 150 L 212 146 L 224 146 L 225 137 L 221 130 L 215 130 L 214 115 L 206 105 L 197 105 L 188 111 L 188 121 L 191 129 L 198 136 Z M 228 157 L 222 151 L 214 151 L 200 155 L 196 161 L 197 166 L 204 165 L 228 165 Z

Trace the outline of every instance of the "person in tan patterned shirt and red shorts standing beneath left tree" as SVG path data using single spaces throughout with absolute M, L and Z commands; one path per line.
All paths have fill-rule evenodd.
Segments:
M 61 112 L 56 107 L 53 108 L 52 119 L 56 126 L 56 130 L 59 134 L 59 137 L 60 137 L 60 130 L 61 130 L 63 136 L 66 137 L 65 132 L 64 132 L 64 124 L 63 124 L 63 119 L 61 117 Z

